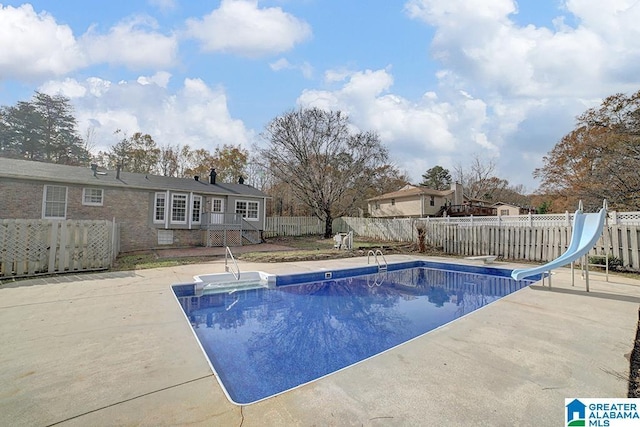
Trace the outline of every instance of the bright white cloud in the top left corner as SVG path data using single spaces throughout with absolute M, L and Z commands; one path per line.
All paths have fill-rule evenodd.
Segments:
M 60 76 L 85 64 L 71 28 L 30 4 L 0 4 L 0 79 Z

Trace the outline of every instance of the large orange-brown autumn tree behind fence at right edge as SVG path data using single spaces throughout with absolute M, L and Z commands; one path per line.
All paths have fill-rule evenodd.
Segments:
M 607 199 L 613 209 L 640 209 L 640 91 L 607 97 L 577 119 L 534 171 L 541 192 L 585 208 Z

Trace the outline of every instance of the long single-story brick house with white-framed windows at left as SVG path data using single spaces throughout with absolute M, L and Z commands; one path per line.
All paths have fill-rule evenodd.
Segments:
M 215 171 L 188 179 L 0 157 L 0 219 L 115 220 L 123 252 L 259 243 L 266 194 L 215 178 Z

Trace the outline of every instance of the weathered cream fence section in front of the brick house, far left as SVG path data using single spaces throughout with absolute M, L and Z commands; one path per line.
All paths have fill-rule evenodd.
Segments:
M 112 221 L 0 220 L 0 279 L 103 270 L 118 254 Z

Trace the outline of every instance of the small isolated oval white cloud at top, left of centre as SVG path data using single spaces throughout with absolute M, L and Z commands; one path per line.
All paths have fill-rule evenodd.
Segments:
M 204 51 L 260 57 L 292 49 L 311 36 L 311 27 L 280 8 L 259 8 L 255 0 L 222 0 L 203 19 L 189 19 L 186 35 Z

